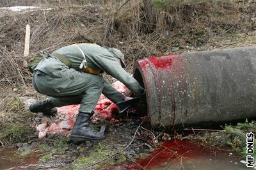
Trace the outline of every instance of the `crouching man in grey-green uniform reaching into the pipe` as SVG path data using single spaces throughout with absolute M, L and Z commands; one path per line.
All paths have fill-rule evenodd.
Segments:
M 33 86 L 38 93 L 50 96 L 29 107 L 31 112 L 56 113 L 55 107 L 81 104 L 70 138 L 79 141 L 100 140 L 104 132 L 90 127 L 90 117 L 100 94 L 114 103 L 129 100 L 102 77 L 106 72 L 125 84 L 139 98 L 145 89 L 124 70 L 124 54 L 115 48 L 106 49 L 94 43 L 61 47 L 33 66 Z

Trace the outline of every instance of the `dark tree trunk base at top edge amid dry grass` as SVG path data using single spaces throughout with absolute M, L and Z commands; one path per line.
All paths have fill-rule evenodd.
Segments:
M 146 20 L 150 30 L 156 27 L 156 10 L 152 4 L 152 0 L 143 0 L 145 7 Z

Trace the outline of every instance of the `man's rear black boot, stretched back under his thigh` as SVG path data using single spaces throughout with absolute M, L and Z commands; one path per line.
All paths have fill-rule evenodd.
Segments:
M 54 107 L 50 98 L 29 106 L 31 112 L 42 112 L 45 116 L 55 116 L 57 108 Z

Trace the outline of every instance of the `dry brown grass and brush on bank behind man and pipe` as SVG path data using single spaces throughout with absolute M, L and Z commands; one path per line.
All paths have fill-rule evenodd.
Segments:
M 39 50 L 52 52 L 76 42 L 116 47 L 124 52 L 127 71 L 131 71 L 133 62 L 145 56 L 255 44 L 255 1 L 150 3 L 153 19 L 147 15 L 145 1 L 0 1 L 0 7 L 42 8 L 31 12 L 0 11 L 1 143 L 28 140 L 28 132 L 33 132 L 35 114 L 28 112 L 19 98 L 43 97 L 33 90 L 31 73 L 26 69 L 26 61 Z M 28 58 L 23 56 L 26 24 L 31 25 Z

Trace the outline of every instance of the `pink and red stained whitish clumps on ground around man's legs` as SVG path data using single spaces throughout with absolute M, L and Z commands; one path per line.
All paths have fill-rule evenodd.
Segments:
M 114 82 L 112 86 L 120 93 L 127 91 L 125 85 L 120 81 Z M 42 123 L 36 127 L 36 130 L 39 132 L 38 137 L 42 139 L 47 134 L 69 135 L 76 122 L 79 107 L 80 105 L 58 107 L 57 119 L 50 120 L 45 117 L 42 119 Z M 118 108 L 116 105 L 104 95 L 100 95 L 99 101 L 95 107 L 95 114 L 92 116 L 92 121 L 98 121 L 104 118 L 111 123 L 119 122 L 119 120 L 115 118 L 115 113 L 117 112 Z

